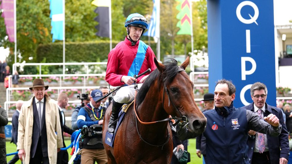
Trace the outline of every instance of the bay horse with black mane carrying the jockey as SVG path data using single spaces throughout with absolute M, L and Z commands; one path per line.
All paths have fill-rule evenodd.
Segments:
M 169 118 L 169 115 L 185 116 L 189 122 L 189 131 L 204 132 L 207 120 L 194 101 L 193 82 L 184 71 L 189 63 L 189 56 L 180 67 L 176 60 L 171 61 L 164 65 L 154 59 L 157 69 L 147 77 L 135 96 L 134 103 L 127 110 L 117 129 L 113 148 L 105 143 L 111 105 L 106 110 L 103 143 L 109 164 L 170 163 L 173 145 L 168 121 L 148 125 L 142 124 L 143 121 L 155 122 Z

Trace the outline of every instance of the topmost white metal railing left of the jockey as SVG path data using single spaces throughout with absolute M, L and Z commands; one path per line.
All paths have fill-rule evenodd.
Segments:
M 12 74 L 14 74 L 17 66 L 39 66 L 40 69 L 40 75 L 41 73 L 41 66 L 43 65 L 62 65 L 63 66 L 63 72 L 65 72 L 65 65 L 84 65 L 86 68 L 86 73 L 89 74 L 88 65 L 106 65 L 107 62 L 81 62 L 81 63 L 14 63 L 12 64 Z

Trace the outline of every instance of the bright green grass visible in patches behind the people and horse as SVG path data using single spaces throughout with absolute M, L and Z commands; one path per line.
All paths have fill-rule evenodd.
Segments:
M 70 145 L 70 140 L 65 140 L 65 144 L 66 146 Z M 189 162 L 188 164 L 202 164 L 202 159 L 199 158 L 196 154 L 196 139 L 190 139 L 188 140 L 188 152 L 191 154 L 191 162 Z M 68 151 L 68 154 L 69 154 L 69 160 L 71 158 L 71 148 L 69 148 L 67 151 Z M 16 146 L 15 144 L 13 143 L 10 143 L 10 141 L 6 141 L 6 154 L 8 153 L 14 153 L 16 152 Z M 9 162 L 12 158 L 13 158 L 14 155 L 10 155 L 10 156 L 7 156 L 7 162 Z M 16 162 L 16 164 L 21 164 L 20 160 L 18 160 Z

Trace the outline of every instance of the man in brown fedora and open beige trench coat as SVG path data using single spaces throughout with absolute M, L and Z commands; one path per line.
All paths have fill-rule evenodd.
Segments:
M 56 163 L 63 147 L 59 108 L 42 79 L 33 80 L 34 96 L 20 110 L 17 150 L 24 163 Z

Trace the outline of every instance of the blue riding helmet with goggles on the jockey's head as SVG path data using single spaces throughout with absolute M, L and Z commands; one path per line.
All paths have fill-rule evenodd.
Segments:
M 138 13 L 130 14 L 126 21 L 125 21 L 125 27 L 128 27 L 129 25 L 143 28 L 144 30 L 148 27 L 148 23 L 146 18 Z

